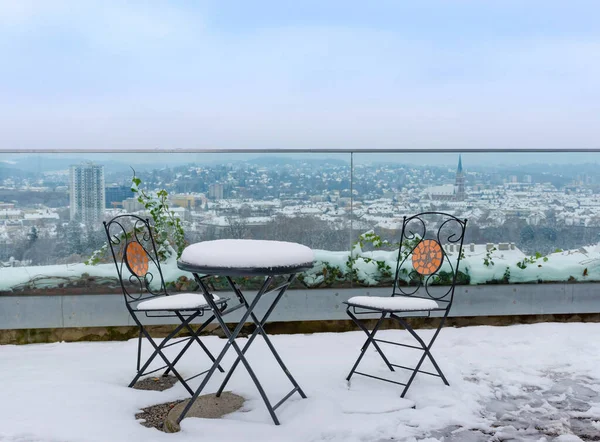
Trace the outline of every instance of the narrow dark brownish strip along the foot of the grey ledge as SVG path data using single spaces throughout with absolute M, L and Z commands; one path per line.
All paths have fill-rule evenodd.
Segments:
M 370 319 L 370 326 L 375 320 Z M 437 326 L 435 318 L 411 318 L 408 322 L 415 328 L 432 328 Z M 600 322 L 600 313 L 560 314 L 560 315 L 513 315 L 513 316 L 471 316 L 451 317 L 446 327 L 468 327 L 477 325 L 507 326 L 514 324 L 535 324 L 539 322 Z M 148 326 L 153 336 L 166 336 L 174 325 Z M 387 321 L 382 328 L 398 328 L 397 324 Z M 241 336 L 252 333 L 254 326 L 247 324 Z M 337 333 L 354 331 L 358 328 L 351 320 L 322 320 L 322 321 L 285 321 L 272 322 L 265 326 L 269 334 L 295 333 Z M 223 332 L 217 327 L 209 327 L 206 335 L 223 337 Z M 184 334 L 182 334 L 184 336 Z M 122 327 L 65 327 L 44 329 L 9 329 L 0 330 L 0 345 L 6 344 L 41 344 L 49 342 L 80 342 L 80 341 L 126 341 L 138 337 L 138 329 L 133 326 Z

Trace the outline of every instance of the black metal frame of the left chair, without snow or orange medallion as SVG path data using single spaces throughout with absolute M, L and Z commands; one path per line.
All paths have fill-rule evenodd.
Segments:
M 175 365 L 181 360 L 185 352 L 190 348 L 192 343 L 196 342 L 202 350 L 206 353 L 208 358 L 214 363 L 215 357 L 200 340 L 200 333 L 210 324 L 214 319 L 215 315 L 210 315 L 204 322 L 198 325 L 196 328 L 192 326 L 192 321 L 204 316 L 205 311 L 210 311 L 209 307 L 195 308 L 195 309 L 167 309 L 161 311 L 148 311 L 138 310 L 137 304 L 141 301 L 170 296 L 167 291 L 166 284 L 163 278 L 162 269 L 159 262 L 159 256 L 152 235 L 152 227 L 148 219 L 143 219 L 137 215 L 119 215 L 108 222 L 103 222 L 106 236 L 108 238 L 108 244 L 112 253 L 112 257 L 117 268 L 117 274 L 119 282 L 123 290 L 123 296 L 125 298 L 125 305 L 129 314 L 133 318 L 135 324 L 139 327 L 138 336 L 138 348 L 137 348 L 137 373 L 132 381 L 129 383 L 129 387 L 133 387 L 135 383 L 142 377 L 155 373 L 157 371 L 166 368 L 163 376 L 167 376 L 170 372 L 181 382 L 184 388 L 190 395 L 194 394 L 194 390 L 189 386 L 188 382 L 198 376 L 206 374 L 208 370 L 190 376 L 184 379 L 181 374 L 175 368 Z M 138 243 L 144 250 L 148 257 L 149 269 L 144 275 L 137 275 L 130 268 L 127 261 L 127 247 L 132 242 Z M 117 250 L 115 250 L 117 249 Z M 159 287 L 152 288 L 151 284 L 155 279 L 155 273 L 150 269 L 155 269 L 155 273 L 159 278 Z M 130 276 L 125 276 L 127 272 Z M 130 285 L 124 283 L 123 278 L 126 277 Z M 135 291 L 134 291 L 135 290 Z M 198 294 L 200 296 L 200 294 Z M 211 295 L 212 300 L 212 295 Z M 225 310 L 227 308 L 227 299 L 219 299 L 217 302 L 213 300 L 213 304 L 216 306 L 218 311 Z M 171 333 L 169 333 L 160 342 L 157 342 L 152 338 L 148 332 L 146 326 L 142 323 L 141 317 L 169 317 L 178 318 L 181 322 Z M 181 339 L 174 340 L 180 332 L 188 332 L 189 336 Z M 142 365 L 142 340 L 146 338 L 153 348 L 152 354 L 145 360 Z M 164 350 L 173 345 L 185 343 L 183 348 L 179 351 L 177 356 L 171 361 L 164 353 Z M 160 357 L 165 363 L 164 366 L 154 370 L 146 371 L 150 364 Z M 219 371 L 224 372 L 223 368 L 219 365 Z

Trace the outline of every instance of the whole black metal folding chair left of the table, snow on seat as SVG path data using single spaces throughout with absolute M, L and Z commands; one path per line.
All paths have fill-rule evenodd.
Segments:
M 167 376 L 169 372 L 173 372 L 189 394 L 193 395 L 194 390 L 190 388 L 188 381 L 207 373 L 209 370 L 184 379 L 175 368 L 175 365 L 194 342 L 204 350 L 213 363 L 215 362 L 214 356 L 200 340 L 200 333 L 210 324 L 215 316 L 211 313 L 210 307 L 202 294 L 170 294 L 167 292 L 159 262 L 157 245 L 148 219 L 143 219 L 136 215 L 120 215 L 103 224 L 115 266 L 117 267 L 119 282 L 123 289 L 125 305 L 140 329 L 137 350 L 137 374 L 130 382 L 129 387 L 133 387 L 140 377 L 166 368 L 163 376 Z M 213 295 L 213 299 L 219 309 L 224 310 L 227 307 L 228 299 L 219 298 L 216 295 Z M 203 316 L 205 312 L 211 313 L 210 317 L 194 329 L 192 321 Z M 159 342 L 150 336 L 146 326 L 142 323 L 142 318 L 144 317 L 177 318 L 181 323 Z M 189 336 L 174 340 L 175 336 L 182 331 L 189 332 Z M 142 365 L 143 337 L 150 342 L 153 352 Z M 169 360 L 164 350 L 173 345 L 183 343 L 185 345 L 177 356 L 173 360 Z M 163 360 L 165 365 L 147 371 L 157 356 Z M 221 372 L 224 371 L 220 365 L 218 369 Z

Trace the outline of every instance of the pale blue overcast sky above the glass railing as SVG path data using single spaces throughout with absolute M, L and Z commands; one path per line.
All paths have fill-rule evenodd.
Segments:
M 0 149 L 600 148 L 600 2 L 0 0 Z

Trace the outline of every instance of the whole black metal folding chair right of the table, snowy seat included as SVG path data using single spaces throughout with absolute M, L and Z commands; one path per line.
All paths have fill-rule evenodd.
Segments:
M 428 225 L 435 227 L 428 229 Z M 367 335 L 360 355 L 346 378 L 347 381 L 357 374 L 402 385 L 404 389 L 401 397 L 406 395 L 417 373 L 440 377 L 444 384 L 450 385 L 433 358 L 431 348 L 452 307 L 466 225 L 466 219 L 460 220 L 441 212 L 423 212 L 411 217 L 404 217 L 391 297 L 355 296 L 346 302 L 346 312 Z M 369 331 L 365 320 L 359 319 L 358 316 L 361 314 L 371 314 L 372 316 L 373 313 L 379 317 L 373 330 Z M 425 342 L 408 323 L 407 318 L 413 316 L 439 319 L 437 329 L 429 342 Z M 386 318 L 392 319 L 408 331 L 418 345 L 377 339 L 376 334 Z M 392 364 L 379 344 L 416 349 L 422 351 L 423 354 L 414 367 Z M 411 372 L 406 383 L 356 370 L 371 345 L 377 350 L 390 371 L 400 368 Z M 435 372 L 421 370 L 425 358 L 431 361 Z

